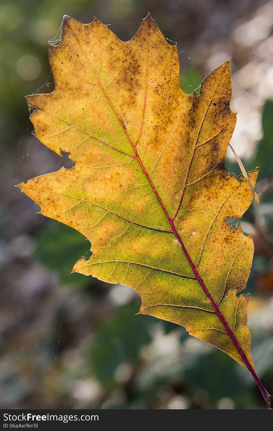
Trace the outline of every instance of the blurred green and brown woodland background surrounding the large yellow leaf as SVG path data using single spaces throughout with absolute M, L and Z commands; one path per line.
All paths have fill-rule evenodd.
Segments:
M 93 16 L 129 40 L 151 12 L 177 41 L 191 93 L 231 57 L 232 145 L 257 193 L 242 219 L 255 254 L 245 293 L 252 356 L 273 393 L 273 2 L 264 0 L 2 0 L 0 4 L 0 408 L 262 409 L 249 373 L 184 328 L 135 315 L 126 286 L 80 274 L 78 232 L 37 214 L 22 181 L 71 166 L 31 135 L 24 96 L 53 90 L 47 41 L 64 14 Z M 229 172 L 239 174 L 231 153 Z M 234 225 L 234 222 L 232 222 Z

